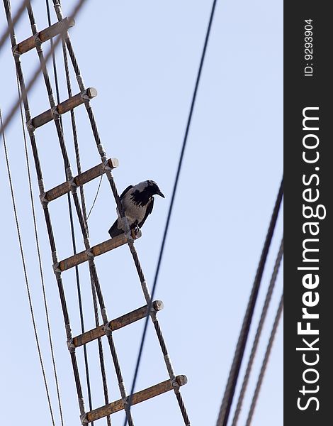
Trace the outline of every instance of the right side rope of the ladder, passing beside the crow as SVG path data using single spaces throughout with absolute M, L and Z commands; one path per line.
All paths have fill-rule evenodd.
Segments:
M 62 9 L 61 9 L 60 0 L 53 0 L 53 3 L 55 5 L 55 11 L 57 13 L 58 21 L 61 21 L 62 20 Z M 69 52 L 69 58 L 72 61 L 72 65 L 73 65 L 73 68 L 74 68 L 75 75 L 77 76 L 77 82 L 79 84 L 79 88 L 80 88 L 80 90 L 84 90 L 84 82 L 83 82 L 83 79 L 82 79 L 82 76 L 81 76 L 81 73 L 80 73 L 80 70 L 79 70 L 79 65 L 77 63 L 77 59 L 75 57 L 74 50 L 72 48 L 71 40 L 70 40 L 69 37 L 66 38 L 65 43 L 66 43 L 66 46 L 67 46 L 67 50 Z M 99 134 L 98 134 L 98 129 L 97 129 L 96 121 L 95 121 L 95 118 L 94 118 L 94 113 L 92 111 L 92 108 L 91 108 L 89 100 L 87 100 L 85 102 L 85 104 L 86 104 L 86 111 L 88 113 L 89 120 L 90 120 L 90 123 L 91 123 L 91 129 L 93 131 L 94 138 L 95 138 L 95 141 L 96 141 L 96 146 L 98 148 L 98 153 L 101 155 L 101 160 L 103 161 L 103 160 L 106 159 L 106 152 L 104 151 L 104 148 L 103 148 L 103 146 L 101 144 L 101 138 L 99 137 Z M 123 205 L 120 202 L 120 197 L 118 195 L 118 190 L 115 187 L 115 182 L 113 180 L 113 175 L 112 175 L 112 173 L 110 171 L 108 171 L 107 177 L 108 177 L 108 181 L 109 181 L 110 186 L 111 186 L 111 190 L 113 192 L 113 197 L 115 198 L 115 203 L 117 205 L 120 217 L 122 219 L 125 219 L 125 213 L 123 211 Z M 126 222 L 127 221 L 125 221 L 125 224 L 126 224 Z M 142 291 L 143 291 L 143 293 L 145 295 L 145 299 L 147 301 L 147 304 L 149 305 L 150 302 L 151 302 L 151 297 L 150 297 L 150 294 L 149 294 L 149 290 L 148 290 L 148 287 L 147 287 L 147 283 L 146 283 L 145 277 L 144 277 L 144 275 L 142 273 L 142 268 L 140 266 L 140 261 L 139 261 L 139 258 L 137 256 L 137 251 L 135 250 L 135 246 L 134 246 L 134 243 L 133 243 L 132 239 L 128 240 L 128 246 L 130 247 L 130 252 L 132 254 L 132 258 L 134 260 L 135 266 L 137 268 L 137 273 L 138 273 L 139 278 L 140 278 L 140 283 L 141 283 L 141 286 L 142 286 Z M 157 337 L 159 339 L 159 345 L 161 346 L 162 353 L 164 354 L 164 363 L 166 364 L 166 369 L 167 369 L 167 371 L 169 373 L 169 377 L 170 377 L 172 383 L 174 383 L 174 386 L 176 388 L 176 390 L 175 390 L 175 392 L 176 392 L 176 398 L 177 398 L 177 401 L 179 403 L 179 408 L 180 408 L 181 413 L 183 415 L 184 422 L 185 422 L 186 425 L 190 425 L 190 422 L 188 420 L 188 415 L 186 413 L 186 408 L 185 408 L 185 405 L 184 405 L 184 401 L 183 401 L 183 399 L 181 397 L 181 393 L 179 391 L 179 386 L 177 386 L 177 384 L 175 383 L 174 369 L 171 366 L 171 360 L 169 358 L 168 352 L 166 351 L 166 344 L 165 344 L 163 336 L 162 336 L 162 331 L 161 331 L 161 329 L 159 327 L 159 322 L 158 322 L 158 320 L 156 318 L 156 315 L 151 314 L 151 317 L 152 317 L 152 321 L 154 322 L 154 329 L 155 329 L 155 331 L 157 333 Z M 125 411 L 128 412 L 128 410 L 125 410 Z

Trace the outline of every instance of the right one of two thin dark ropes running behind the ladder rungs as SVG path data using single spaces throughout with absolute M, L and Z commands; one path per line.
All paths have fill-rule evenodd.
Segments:
M 47 0 L 47 13 L 48 13 L 48 15 L 50 15 L 49 1 L 48 0 Z M 63 58 L 64 58 L 64 70 L 65 70 L 66 82 L 67 82 L 67 93 L 68 93 L 68 96 L 70 98 L 70 97 L 72 97 L 72 84 L 71 84 L 70 75 L 69 75 L 67 50 L 66 50 L 66 45 L 64 43 L 64 40 L 62 40 L 62 54 L 63 54 Z M 71 109 L 70 114 L 71 114 L 71 121 L 72 121 L 72 134 L 73 134 L 73 140 L 74 140 L 75 157 L 76 157 L 76 160 L 77 160 L 77 173 L 81 174 L 79 140 L 78 140 L 78 137 L 77 137 L 77 124 L 76 124 L 76 121 L 75 121 L 74 109 Z M 84 186 L 83 185 L 80 186 L 80 198 L 81 198 L 81 207 L 82 207 L 84 222 L 86 223 L 86 230 L 87 230 L 87 233 L 88 233 L 88 236 L 89 236 L 89 227 L 88 227 L 88 223 L 87 223 L 89 215 L 87 216 L 87 214 L 86 214 L 86 202 L 85 202 L 85 197 L 84 197 Z M 96 324 L 96 327 L 98 327 L 99 326 L 99 317 L 98 317 L 98 305 L 97 305 L 97 300 L 96 300 L 96 289 L 95 289 L 95 286 L 94 286 L 94 278 L 91 275 L 91 273 L 90 273 L 90 278 L 91 278 L 91 293 L 92 293 L 92 297 L 93 297 L 94 314 L 95 314 L 95 324 Z M 83 332 L 84 332 L 84 330 L 83 330 Z M 85 345 L 84 345 L 84 347 L 85 347 Z M 101 366 L 101 377 L 102 377 L 102 382 L 103 382 L 104 401 L 105 401 L 106 404 L 108 404 L 108 402 L 109 402 L 109 399 L 108 399 L 108 384 L 107 384 L 107 381 L 106 381 L 106 369 L 105 369 L 103 345 L 102 345 L 101 339 L 98 339 L 98 356 L 99 356 L 99 362 L 100 362 L 100 366 Z M 106 420 L 107 420 L 108 426 L 111 426 L 111 417 L 107 416 Z

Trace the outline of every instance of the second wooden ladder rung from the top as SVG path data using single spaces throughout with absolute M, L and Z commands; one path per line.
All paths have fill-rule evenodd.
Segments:
M 97 90 L 94 87 L 88 87 L 88 89 L 84 90 L 84 92 L 75 94 L 61 104 L 58 104 L 54 109 L 47 109 L 47 111 L 42 112 L 42 114 L 35 116 L 33 119 L 28 121 L 28 126 L 32 125 L 33 129 L 37 129 L 71 109 L 79 107 L 79 105 L 84 104 L 86 100 L 93 99 L 96 96 Z

